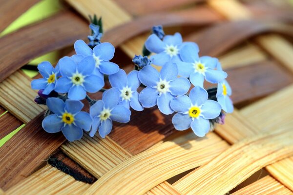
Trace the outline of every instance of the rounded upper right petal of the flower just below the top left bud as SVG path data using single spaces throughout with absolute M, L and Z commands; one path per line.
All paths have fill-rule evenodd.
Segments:
M 103 42 L 95 46 L 93 51 L 95 56 L 105 61 L 109 61 L 110 59 L 114 57 L 115 48 L 111 43 Z

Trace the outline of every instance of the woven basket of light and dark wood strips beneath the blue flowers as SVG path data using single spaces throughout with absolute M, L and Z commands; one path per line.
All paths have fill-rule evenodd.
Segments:
M 1 0 L 0 31 L 36 2 Z M 292 9 L 289 0 L 66 0 L 60 13 L 3 36 L 0 138 L 22 128 L 0 147 L 0 195 L 293 194 Z M 153 25 L 197 42 L 228 72 L 237 109 L 204 138 L 175 131 L 156 108 L 133 112 L 105 139 L 46 133 L 20 68 L 54 50 L 73 54 L 92 14 L 126 72 Z

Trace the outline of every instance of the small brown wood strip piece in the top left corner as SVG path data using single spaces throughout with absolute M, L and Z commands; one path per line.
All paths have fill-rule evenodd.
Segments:
M 39 0 L 0 0 L 0 32 Z

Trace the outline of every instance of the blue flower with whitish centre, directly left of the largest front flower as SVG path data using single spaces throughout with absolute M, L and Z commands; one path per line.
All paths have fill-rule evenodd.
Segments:
M 123 105 L 129 109 L 133 108 L 136 111 L 142 111 L 144 108 L 138 101 L 137 88 L 141 82 L 137 77 L 138 71 L 131 71 L 128 76 L 124 70 L 120 69 L 117 73 L 109 75 L 109 81 L 112 87 L 120 91 L 119 105 Z

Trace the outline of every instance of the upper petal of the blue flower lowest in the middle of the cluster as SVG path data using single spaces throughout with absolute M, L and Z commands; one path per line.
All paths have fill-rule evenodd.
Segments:
M 105 108 L 112 109 L 118 105 L 120 101 L 120 92 L 116 88 L 111 88 L 103 93 L 102 100 L 105 104 Z

